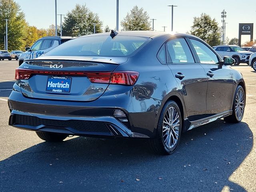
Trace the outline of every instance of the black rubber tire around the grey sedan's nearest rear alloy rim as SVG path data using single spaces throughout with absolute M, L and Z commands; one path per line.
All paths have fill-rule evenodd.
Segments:
M 178 112 L 178 118 L 180 120 L 180 122 L 179 122 L 180 125 L 178 128 L 179 132 L 177 134 L 178 138 L 176 137 L 177 138 L 176 144 L 174 144 L 174 146 L 172 148 L 168 148 L 168 146 L 166 145 L 166 143 L 164 141 L 164 136 L 166 134 L 163 134 L 163 125 L 164 125 L 164 117 L 167 114 L 168 109 L 171 107 L 174 107 L 176 109 L 176 112 Z M 161 155 L 172 154 L 176 150 L 176 148 L 180 142 L 180 137 L 181 137 L 181 133 L 182 133 L 182 121 L 183 120 L 182 120 L 182 116 L 180 114 L 180 108 L 176 104 L 176 102 L 174 102 L 174 101 L 166 102 L 166 104 L 164 105 L 164 107 L 161 111 L 161 114 L 160 114 L 160 117 L 158 120 L 158 124 L 157 124 L 157 128 L 156 128 L 156 136 L 155 136 L 155 138 L 152 138 L 149 140 L 150 148 L 157 154 L 161 154 Z M 169 129 L 170 129 L 170 127 L 169 127 Z M 166 132 L 170 133 L 171 130 L 167 130 Z M 166 137 L 168 137 L 168 136 L 166 136 Z M 170 139 L 170 141 L 172 141 L 172 140 Z

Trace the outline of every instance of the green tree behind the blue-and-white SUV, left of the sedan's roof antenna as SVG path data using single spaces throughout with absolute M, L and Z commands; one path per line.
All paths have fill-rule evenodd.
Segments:
M 81 36 L 94 33 L 94 24 L 96 33 L 102 32 L 102 21 L 98 14 L 93 13 L 86 4 L 76 4 L 75 8 L 64 16 L 62 24 L 63 35 Z

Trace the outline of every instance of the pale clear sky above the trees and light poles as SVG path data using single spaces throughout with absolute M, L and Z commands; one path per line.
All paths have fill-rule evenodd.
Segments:
M 38 28 L 48 28 L 55 23 L 54 0 L 16 0 L 26 14 L 26 21 Z M 58 14 L 66 14 L 75 4 L 84 4 L 98 13 L 103 26 L 116 27 L 116 0 L 57 0 Z M 167 5 L 177 5 L 174 8 L 174 31 L 186 32 L 192 26 L 193 18 L 202 12 L 210 14 L 221 23 L 220 12 L 227 12 L 226 37 L 238 37 L 239 23 L 254 23 L 254 39 L 256 39 L 256 0 L 119 0 L 119 22 L 133 6 L 143 7 L 150 18 L 155 18 L 154 29 L 163 31 L 162 26 L 170 30 L 171 8 Z M 58 24 L 60 16 L 58 16 Z M 121 26 L 119 24 L 119 30 Z M 242 42 L 249 40 L 242 37 Z

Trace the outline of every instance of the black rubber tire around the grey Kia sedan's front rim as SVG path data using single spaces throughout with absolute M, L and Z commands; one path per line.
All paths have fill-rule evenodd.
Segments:
M 241 122 L 243 116 L 244 116 L 244 109 L 243 109 L 243 112 L 242 112 L 242 117 L 241 118 L 238 118 L 238 116 L 236 115 L 236 110 L 235 110 L 235 107 L 236 107 L 236 95 L 238 94 L 238 91 L 241 90 L 242 93 L 243 93 L 243 100 L 244 100 L 244 108 L 245 108 L 245 94 L 244 94 L 244 89 L 242 86 L 238 85 L 237 88 L 236 88 L 236 92 L 235 92 L 235 96 L 234 96 L 234 99 L 233 99 L 233 105 L 232 105 L 232 115 L 230 116 L 227 116 L 227 117 L 224 117 L 224 121 L 225 122 L 228 122 L 228 123 L 239 123 Z

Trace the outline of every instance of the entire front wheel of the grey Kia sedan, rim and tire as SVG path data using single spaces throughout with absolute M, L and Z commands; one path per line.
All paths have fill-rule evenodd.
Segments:
M 233 101 L 232 115 L 224 118 L 226 122 L 229 123 L 239 123 L 244 116 L 244 106 L 245 106 L 245 95 L 242 86 L 236 88 L 236 93 Z

